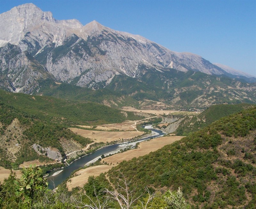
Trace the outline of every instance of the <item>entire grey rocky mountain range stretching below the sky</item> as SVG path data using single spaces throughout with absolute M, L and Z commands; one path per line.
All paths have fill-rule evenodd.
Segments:
M 115 75 L 140 80 L 145 68 L 161 73 L 200 71 L 254 82 L 251 75 L 214 65 L 201 56 L 173 52 L 139 35 L 92 21 L 56 20 L 34 4 L 0 14 L 0 86 L 13 92 L 40 91 L 50 78 L 81 87 L 106 87 Z

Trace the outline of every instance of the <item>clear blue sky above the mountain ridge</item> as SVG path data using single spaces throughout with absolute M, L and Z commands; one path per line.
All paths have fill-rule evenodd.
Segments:
M 0 0 L 0 13 L 25 3 L 51 11 L 55 19 L 83 25 L 96 20 L 256 76 L 255 0 Z

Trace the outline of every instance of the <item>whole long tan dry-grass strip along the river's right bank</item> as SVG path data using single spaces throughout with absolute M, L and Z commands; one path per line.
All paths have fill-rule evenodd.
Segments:
M 89 176 L 98 176 L 101 173 L 107 172 L 113 166 L 117 165 L 117 162 L 122 162 L 123 160 L 130 160 L 134 157 L 140 157 L 148 154 L 151 151 L 156 151 L 163 147 L 166 144 L 171 144 L 177 140 L 180 140 L 183 136 L 167 136 L 167 137 L 159 137 L 156 139 L 152 139 L 151 141 L 141 142 L 138 149 L 128 150 L 123 153 L 118 153 L 112 155 L 110 157 L 104 158 L 104 162 L 112 165 L 100 165 L 100 166 L 92 166 L 85 169 L 81 169 L 75 173 L 75 177 L 71 178 L 67 182 L 68 190 L 72 190 L 74 187 L 82 187 L 85 183 L 87 183 Z M 102 161 L 101 160 L 101 163 Z

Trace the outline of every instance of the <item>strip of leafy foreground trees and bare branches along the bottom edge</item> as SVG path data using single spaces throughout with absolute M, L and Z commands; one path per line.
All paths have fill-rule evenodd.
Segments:
M 47 189 L 47 181 L 38 167 L 22 169 L 20 179 L 11 171 L 8 179 L 0 183 L 0 207 L 3 209 L 190 209 L 180 188 L 168 191 L 166 195 L 152 193 L 146 188 L 138 194 L 131 190 L 131 182 L 118 176 L 116 184 L 109 185 L 104 174 L 95 179 L 89 177 L 85 192 L 68 192 L 59 186 L 57 190 Z M 114 176 L 113 176 L 114 177 Z M 123 178 L 120 178 L 123 177 Z M 113 189 L 115 188 L 115 192 Z

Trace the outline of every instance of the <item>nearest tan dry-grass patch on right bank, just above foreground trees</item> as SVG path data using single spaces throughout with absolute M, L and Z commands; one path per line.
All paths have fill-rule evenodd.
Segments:
M 75 187 L 82 187 L 84 184 L 87 183 L 88 178 L 92 175 L 94 176 L 99 176 L 101 173 L 107 172 L 109 169 L 111 169 L 112 166 L 108 165 L 100 165 L 100 166 L 93 166 L 93 167 L 88 167 L 86 169 L 81 169 L 75 173 L 75 177 L 71 178 L 67 182 L 67 188 L 68 191 L 71 191 L 72 188 Z

